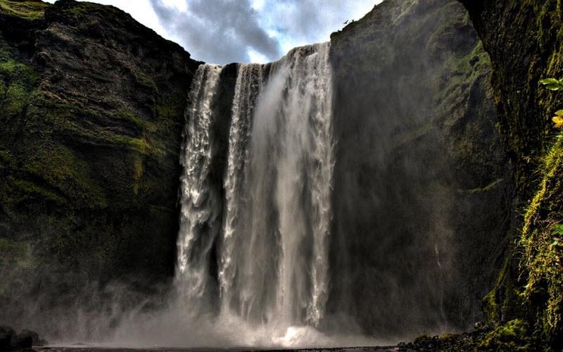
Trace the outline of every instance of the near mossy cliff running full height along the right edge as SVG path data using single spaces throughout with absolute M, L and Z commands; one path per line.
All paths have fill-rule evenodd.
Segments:
M 522 318 L 543 348 L 563 346 L 562 144 L 551 118 L 561 92 L 539 83 L 561 78 L 563 12 L 559 1 L 462 1 L 491 55 L 502 145 L 514 165 L 518 231 L 495 290 L 485 301 L 492 320 Z

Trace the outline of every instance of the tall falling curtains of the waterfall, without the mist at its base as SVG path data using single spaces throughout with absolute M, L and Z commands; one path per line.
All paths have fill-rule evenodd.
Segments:
M 189 96 L 177 287 L 201 298 L 217 285 L 222 313 L 251 324 L 318 327 L 334 166 L 329 43 L 237 65 L 224 196 L 210 181 L 220 73 L 202 65 Z

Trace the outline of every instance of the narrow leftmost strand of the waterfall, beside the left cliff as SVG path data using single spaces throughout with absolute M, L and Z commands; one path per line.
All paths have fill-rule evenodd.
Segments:
M 180 163 L 180 226 L 177 287 L 184 298 L 202 298 L 210 290 L 208 258 L 220 230 L 221 197 L 210 184 L 214 111 L 212 108 L 222 68 L 201 65 L 194 77 L 186 110 Z

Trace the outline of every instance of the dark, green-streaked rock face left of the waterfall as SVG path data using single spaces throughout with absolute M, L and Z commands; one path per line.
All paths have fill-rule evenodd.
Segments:
M 111 6 L 3 0 L 0 30 L 0 321 L 26 293 L 166 282 L 198 63 Z

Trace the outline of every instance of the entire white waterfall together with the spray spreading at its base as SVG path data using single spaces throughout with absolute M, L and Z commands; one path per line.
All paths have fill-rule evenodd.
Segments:
M 223 76 L 231 72 L 200 66 L 180 160 L 177 294 L 161 310 L 139 306 L 121 317 L 111 346 L 386 344 L 351 333 L 342 320 L 337 324 L 345 329 L 330 323 L 330 334 L 322 329 L 331 321 L 328 56 L 326 43 L 293 49 L 277 63 L 239 64 L 228 142 L 217 127 L 229 122 L 221 94 Z

